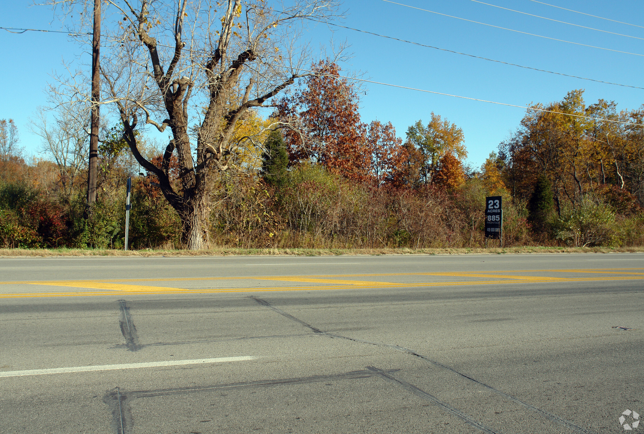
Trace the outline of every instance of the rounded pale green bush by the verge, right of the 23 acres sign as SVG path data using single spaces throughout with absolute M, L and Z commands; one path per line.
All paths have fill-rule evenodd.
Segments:
M 573 247 L 610 246 L 620 241 L 611 207 L 588 195 L 574 206 L 563 206 L 553 225 L 556 238 Z

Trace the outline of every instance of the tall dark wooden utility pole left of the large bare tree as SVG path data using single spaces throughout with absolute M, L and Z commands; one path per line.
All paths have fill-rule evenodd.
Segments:
M 90 164 L 87 173 L 87 204 L 96 202 L 96 181 L 99 160 L 100 102 L 100 0 L 94 0 L 94 35 L 91 41 L 91 132 Z

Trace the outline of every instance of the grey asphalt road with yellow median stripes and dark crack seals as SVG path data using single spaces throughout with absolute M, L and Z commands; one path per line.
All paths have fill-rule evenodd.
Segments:
M 636 433 L 643 290 L 644 254 L 0 258 L 0 432 Z

